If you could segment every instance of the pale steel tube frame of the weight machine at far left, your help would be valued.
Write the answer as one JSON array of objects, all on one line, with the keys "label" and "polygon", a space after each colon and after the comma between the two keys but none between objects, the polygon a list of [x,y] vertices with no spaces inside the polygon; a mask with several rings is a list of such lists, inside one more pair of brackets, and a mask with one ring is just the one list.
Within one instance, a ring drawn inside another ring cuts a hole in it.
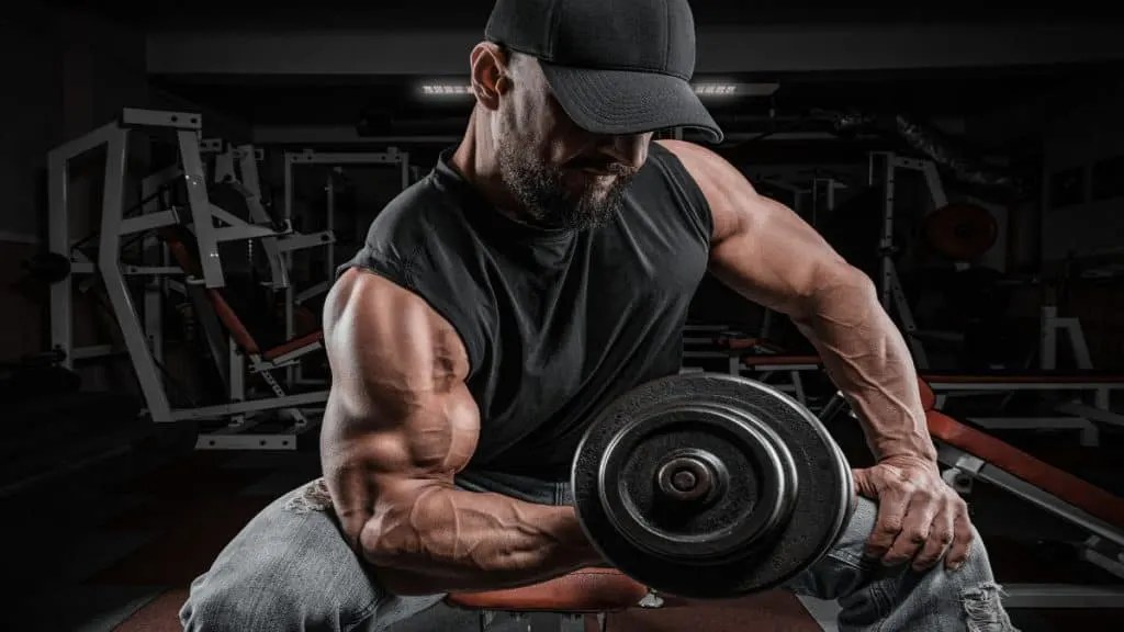
[{"label": "pale steel tube frame of the weight machine at far left", "polygon": [[[180,209],[154,210],[136,217],[125,217],[125,187],[127,178],[128,142],[133,129],[173,130],[180,154],[179,169],[149,175],[144,188],[149,189],[160,179],[183,178],[188,195],[198,259],[202,277],[184,279],[187,285],[199,285],[208,289],[225,285],[223,267],[218,255],[218,243],[237,240],[261,240],[263,237],[285,237],[270,227],[244,222],[215,207],[207,196],[206,173],[200,152],[202,118],[198,114],[157,111],[144,109],[123,110],[120,119],[107,124],[75,141],[65,143],[48,154],[49,172],[49,237],[52,253],[71,262],[71,274],[51,288],[51,338],[52,346],[64,353],[63,364],[73,367],[75,358],[103,355],[103,347],[75,347],[73,341],[73,297],[76,276],[100,276],[106,294],[121,331],[126,351],[136,372],[146,413],[154,423],[174,423],[189,419],[221,419],[281,408],[300,408],[327,400],[327,391],[303,392],[246,401],[230,401],[198,408],[173,408],[161,380],[162,371],[154,355],[158,349],[153,334],[146,331],[137,313],[125,277],[133,274],[184,276],[178,267],[123,265],[121,238],[127,235],[154,231],[180,223]],[[106,147],[105,188],[101,204],[101,224],[97,261],[89,261],[73,251],[70,235],[70,168],[71,161],[91,151]],[[216,226],[218,218],[227,226]],[[146,307],[157,301],[146,297]],[[155,317],[158,319],[158,316]],[[153,317],[146,315],[146,324],[152,326]],[[220,355],[217,355],[220,358]],[[294,434],[246,435],[229,432],[200,435],[197,445],[218,449],[287,448],[296,449]],[[248,428],[246,428],[248,430]]]}]

